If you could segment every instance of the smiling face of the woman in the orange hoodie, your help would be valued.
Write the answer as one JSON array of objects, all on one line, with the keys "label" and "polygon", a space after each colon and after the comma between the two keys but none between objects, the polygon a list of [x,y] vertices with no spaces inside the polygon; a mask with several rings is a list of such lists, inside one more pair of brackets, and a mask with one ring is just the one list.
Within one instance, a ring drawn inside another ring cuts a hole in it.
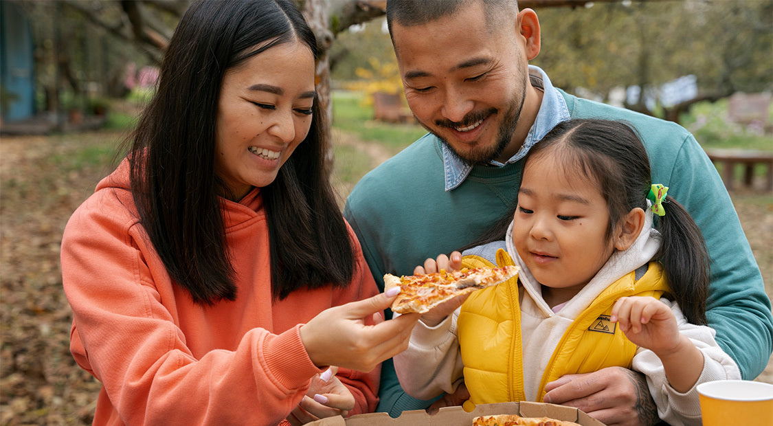
[{"label": "smiling face of the woman in the orange hoodie", "polygon": [[274,182],[312,124],[314,56],[281,43],[226,71],[217,108],[215,172],[235,200]]}]

